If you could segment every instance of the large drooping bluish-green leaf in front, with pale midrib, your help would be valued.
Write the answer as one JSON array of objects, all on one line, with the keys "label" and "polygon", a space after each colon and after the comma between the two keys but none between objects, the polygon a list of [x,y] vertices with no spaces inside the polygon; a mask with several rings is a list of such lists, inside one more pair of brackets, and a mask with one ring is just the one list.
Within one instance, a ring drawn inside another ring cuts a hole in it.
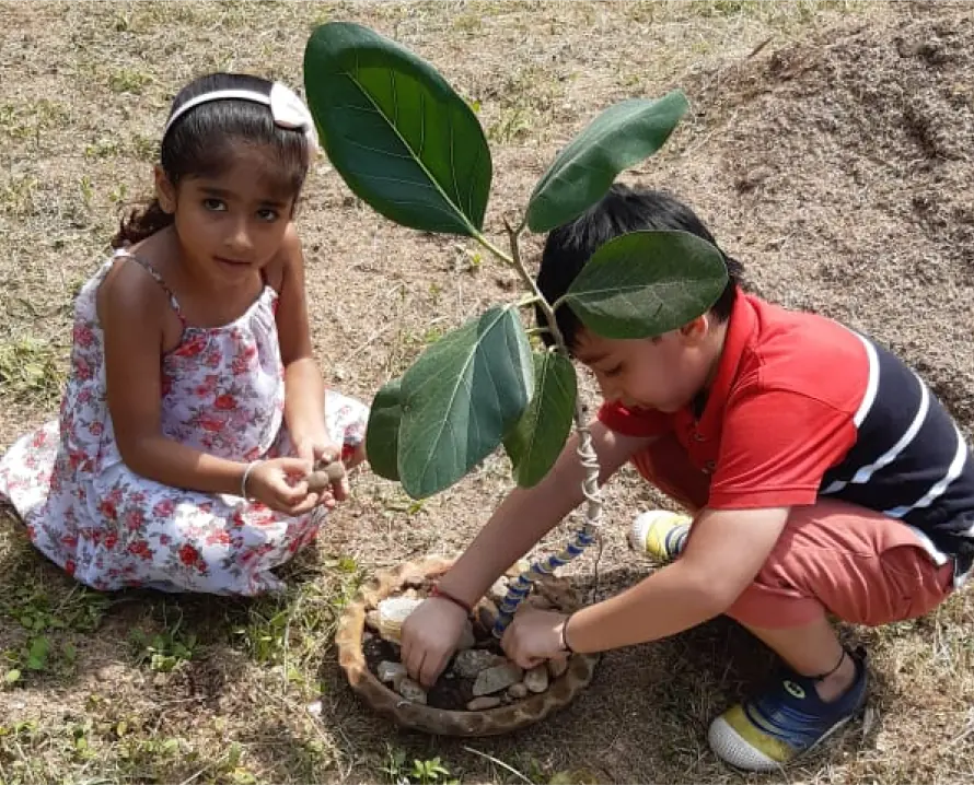
[{"label": "large drooping bluish-green leaf in front, with pale midrib", "polygon": [[527,336],[517,311],[492,307],[427,349],[403,375],[398,469],[422,499],[486,458],[534,394]]}]

